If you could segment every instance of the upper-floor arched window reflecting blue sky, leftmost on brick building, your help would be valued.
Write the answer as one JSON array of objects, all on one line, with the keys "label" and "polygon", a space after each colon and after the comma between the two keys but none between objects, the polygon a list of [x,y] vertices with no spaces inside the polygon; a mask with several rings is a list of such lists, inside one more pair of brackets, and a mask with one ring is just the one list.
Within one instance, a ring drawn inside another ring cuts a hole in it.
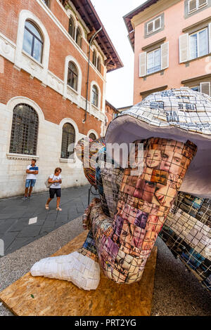
[{"label": "upper-floor arched window reflecting blue sky, leftmost on brick building", "polygon": [[42,60],[43,51],[43,37],[37,27],[26,20],[24,36],[23,36],[23,50],[32,56],[38,62]]}]

